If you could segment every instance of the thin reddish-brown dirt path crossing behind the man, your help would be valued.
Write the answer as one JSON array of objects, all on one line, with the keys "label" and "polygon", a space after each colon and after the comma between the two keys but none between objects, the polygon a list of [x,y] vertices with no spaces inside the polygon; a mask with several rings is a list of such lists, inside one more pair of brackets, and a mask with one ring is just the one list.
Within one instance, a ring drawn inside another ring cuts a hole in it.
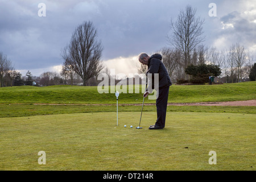
[{"label": "thin reddish-brown dirt path crossing behind the man", "polygon": [[[113,104],[34,104],[34,105],[113,105]],[[120,104],[120,105],[142,105],[142,104]],[[155,105],[155,104],[144,104]],[[256,100],[249,101],[229,101],[229,102],[198,102],[198,103],[168,103],[173,106],[256,106]]]}]

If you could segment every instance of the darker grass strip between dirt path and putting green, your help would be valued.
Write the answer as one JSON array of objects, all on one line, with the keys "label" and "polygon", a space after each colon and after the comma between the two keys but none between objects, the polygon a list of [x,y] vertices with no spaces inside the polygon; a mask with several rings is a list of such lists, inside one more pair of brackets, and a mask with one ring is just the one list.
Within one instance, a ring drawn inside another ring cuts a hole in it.
[{"label": "darker grass strip between dirt path and putting green", "polygon": [[[142,105],[142,103],[141,103]],[[141,111],[141,105],[118,105],[118,111]],[[32,105],[0,104],[0,118],[33,115],[114,112],[116,105]],[[143,111],[156,111],[155,105],[144,105]],[[208,112],[256,114],[255,106],[168,106],[171,112]]]}]

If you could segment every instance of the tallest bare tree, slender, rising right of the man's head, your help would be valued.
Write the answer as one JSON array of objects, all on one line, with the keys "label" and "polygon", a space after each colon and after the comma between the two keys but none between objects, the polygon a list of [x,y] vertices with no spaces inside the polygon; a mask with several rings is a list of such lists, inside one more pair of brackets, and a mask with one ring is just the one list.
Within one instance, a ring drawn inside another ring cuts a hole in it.
[{"label": "tallest bare tree, slender, rising right of the man's head", "polygon": [[172,35],[167,36],[168,42],[183,54],[181,65],[184,69],[191,64],[193,49],[204,42],[203,24],[204,20],[196,18],[196,9],[189,5],[185,7],[185,11],[180,11],[176,22],[171,21]]}]

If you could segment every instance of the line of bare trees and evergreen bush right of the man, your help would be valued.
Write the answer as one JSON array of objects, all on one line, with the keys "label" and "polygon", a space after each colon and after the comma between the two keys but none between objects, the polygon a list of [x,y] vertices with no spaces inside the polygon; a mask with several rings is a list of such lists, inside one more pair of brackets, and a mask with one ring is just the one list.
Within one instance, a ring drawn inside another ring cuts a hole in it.
[{"label": "line of bare trees and evergreen bush right of the man", "polygon": [[[175,21],[171,20],[171,33],[167,36],[168,47],[156,52],[162,54],[163,63],[172,80],[180,83],[197,82],[196,79],[205,80],[211,75],[220,76],[222,82],[255,80],[253,63],[256,57],[253,53],[247,51],[240,43],[234,43],[225,50],[205,46],[203,24],[204,19],[196,17],[196,9],[190,5],[186,6],[185,10],[180,10]],[[209,72],[208,69],[198,77],[207,65],[215,66],[216,70]],[[138,72],[146,72],[146,67],[141,65]]]}]

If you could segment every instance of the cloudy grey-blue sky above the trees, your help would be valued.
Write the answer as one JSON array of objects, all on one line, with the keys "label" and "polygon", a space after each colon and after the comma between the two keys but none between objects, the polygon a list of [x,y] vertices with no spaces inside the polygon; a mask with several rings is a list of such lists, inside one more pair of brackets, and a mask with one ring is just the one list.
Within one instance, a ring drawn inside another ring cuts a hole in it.
[{"label": "cloudy grey-blue sky above the trees", "polygon": [[[38,5],[46,5],[39,16]],[[216,17],[209,16],[210,3]],[[137,56],[168,46],[171,19],[186,5],[205,20],[205,46],[228,49],[240,43],[256,50],[255,0],[0,0],[0,52],[23,75],[59,72],[60,53],[72,32],[84,21],[98,30],[104,51],[102,61],[115,73],[137,73]]]}]

